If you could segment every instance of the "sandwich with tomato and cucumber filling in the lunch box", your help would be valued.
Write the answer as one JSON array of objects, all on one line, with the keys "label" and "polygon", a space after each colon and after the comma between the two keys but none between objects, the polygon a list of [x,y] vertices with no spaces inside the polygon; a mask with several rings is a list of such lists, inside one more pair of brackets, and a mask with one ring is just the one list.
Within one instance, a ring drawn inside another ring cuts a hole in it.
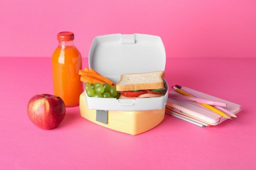
[{"label": "sandwich with tomato and cucumber filling in the lunch box", "polygon": [[116,90],[120,93],[119,99],[160,97],[167,91],[164,77],[163,71],[123,74],[116,84]]}]

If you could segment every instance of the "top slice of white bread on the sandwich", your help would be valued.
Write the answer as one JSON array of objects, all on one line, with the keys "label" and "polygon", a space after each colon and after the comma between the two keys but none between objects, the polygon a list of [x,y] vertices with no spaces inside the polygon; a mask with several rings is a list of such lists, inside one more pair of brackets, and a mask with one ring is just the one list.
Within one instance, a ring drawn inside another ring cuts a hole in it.
[{"label": "top slice of white bread on the sandwich", "polygon": [[123,74],[116,84],[117,91],[149,90],[164,88],[163,71]]}]

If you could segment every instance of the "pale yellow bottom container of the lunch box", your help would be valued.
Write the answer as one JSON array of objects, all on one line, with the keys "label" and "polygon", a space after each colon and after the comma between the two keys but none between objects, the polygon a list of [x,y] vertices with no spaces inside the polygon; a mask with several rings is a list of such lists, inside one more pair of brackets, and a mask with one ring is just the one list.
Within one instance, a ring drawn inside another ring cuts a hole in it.
[{"label": "pale yellow bottom container of the lunch box", "polygon": [[143,111],[108,111],[108,122],[96,121],[96,110],[87,107],[85,92],[81,93],[79,101],[80,113],[83,118],[100,126],[108,127],[123,133],[137,135],[158,126],[165,116],[165,108],[161,110]]}]

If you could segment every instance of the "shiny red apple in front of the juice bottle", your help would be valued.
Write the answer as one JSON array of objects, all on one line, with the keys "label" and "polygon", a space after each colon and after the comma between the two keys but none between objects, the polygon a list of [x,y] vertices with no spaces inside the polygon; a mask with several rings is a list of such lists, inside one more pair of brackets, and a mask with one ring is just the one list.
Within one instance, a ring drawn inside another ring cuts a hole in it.
[{"label": "shiny red apple in front of the juice bottle", "polygon": [[28,117],[42,129],[57,127],[66,114],[64,101],[51,94],[34,95],[28,102]]}]

